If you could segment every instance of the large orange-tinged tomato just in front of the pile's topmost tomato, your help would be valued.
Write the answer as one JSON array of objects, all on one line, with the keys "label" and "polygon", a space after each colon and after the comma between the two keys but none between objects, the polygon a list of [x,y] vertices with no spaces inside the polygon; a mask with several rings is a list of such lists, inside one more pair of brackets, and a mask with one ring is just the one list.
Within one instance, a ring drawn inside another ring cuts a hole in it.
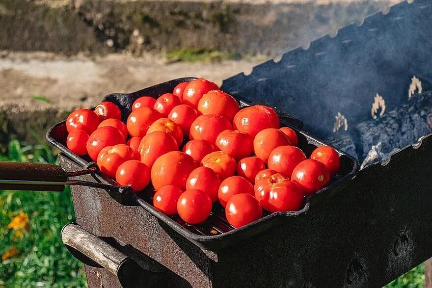
[{"label": "large orange-tinged tomato just in front of the pile's topmost tomato", "polygon": [[234,115],[239,112],[239,109],[237,100],[220,90],[207,92],[198,102],[198,111],[203,115],[220,114],[230,122],[233,121]]}]

